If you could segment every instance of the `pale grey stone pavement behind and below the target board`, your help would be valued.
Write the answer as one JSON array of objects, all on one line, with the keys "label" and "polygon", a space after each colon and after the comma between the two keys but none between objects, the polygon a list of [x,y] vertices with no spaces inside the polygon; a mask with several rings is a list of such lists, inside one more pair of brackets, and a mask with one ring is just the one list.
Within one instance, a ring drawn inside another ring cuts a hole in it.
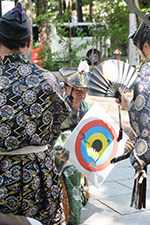
[{"label": "pale grey stone pavement behind and below the target board", "polygon": [[[129,94],[132,97],[132,93]],[[118,106],[114,99],[88,96],[88,102],[98,101],[107,113],[119,122]],[[128,133],[128,114],[121,111],[122,126]],[[149,225],[150,224],[150,168],[148,166],[146,209],[130,207],[134,183],[134,169],[129,159],[118,162],[103,184],[97,189],[89,182],[91,198],[81,210],[83,225]]]}]

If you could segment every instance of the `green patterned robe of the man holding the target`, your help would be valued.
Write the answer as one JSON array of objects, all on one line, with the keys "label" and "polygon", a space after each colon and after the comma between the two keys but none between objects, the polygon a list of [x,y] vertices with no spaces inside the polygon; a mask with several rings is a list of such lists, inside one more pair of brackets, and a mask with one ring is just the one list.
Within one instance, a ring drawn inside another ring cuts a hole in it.
[{"label": "green patterned robe of the man holding the target", "polygon": [[[66,99],[66,95],[64,96]],[[68,100],[66,100],[69,104]],[[75,110],[70,106],[71,113],[65,119],[65,121],[61,125],[61,135],[59,136],[56,145],[63,145],[64,141],[68,137],[68,135],[73,131],[76,125],[80,122],[82,117],[91,107],[91,104],[83,101],[80,103],[78,116]],[[70,207],[70,225],[79,225],[80,217],[81,217],[81,208],[84,204],[83,199],[83,191],[81,186],[81,173],[73,166],[66,166],[62,172],[62,176],[64,179],[64,184],[66,186],[68,198],[69,198],[69,207]],[[65,208],[66,206],[64,206]]]}]

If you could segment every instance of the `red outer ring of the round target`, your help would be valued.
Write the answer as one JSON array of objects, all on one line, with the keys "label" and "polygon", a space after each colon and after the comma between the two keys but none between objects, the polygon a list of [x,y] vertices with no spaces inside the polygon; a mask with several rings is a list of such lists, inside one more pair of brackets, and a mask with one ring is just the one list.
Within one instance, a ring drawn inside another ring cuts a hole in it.
[{"label": "red outer ring of the round target", "polygon": [[[97,165],[97,169],[94,167],[91,167],[89,165],[89,163],[87,163],[85,161],[85,159],[83,158],[82,153],[81,153],[82,134],[85,134],[90,128],[92,128],[94,126],[100,126],[100,127],[106,128],[110,132],[110,134],[113,138],[113,150],[111,152],[111,155],[109,156],[107,161],[105,161],[104,163],[102,163],[100,165]],[[89,123],[87,123],[79,131],[79,134],[78,134],[78,136],[76,138],[76,142],[75,142],[75,154],[78,159],[78,162],[84,169],[86,169],[88,171],[92,171],[92,172],[98,172],[98,171],[106,169],[110,165],[110,160],[116,156],[117,150],[118,150],[117,134],[116,134],[114,128],[112,127],[112,125],[110,125],[107,122],[104,122],[103,120],[93,120],[93,121],[90,121]]]}]

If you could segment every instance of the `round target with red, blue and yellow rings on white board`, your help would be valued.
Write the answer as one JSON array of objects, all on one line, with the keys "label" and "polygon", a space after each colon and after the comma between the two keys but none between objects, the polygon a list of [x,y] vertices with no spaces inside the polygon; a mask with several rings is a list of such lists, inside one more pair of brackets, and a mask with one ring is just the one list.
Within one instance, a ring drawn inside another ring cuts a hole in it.
[{"label": "round target with red, blue and yellow rings on white board", "polygon": [[117,134],[112,125],[103,120],[88,122],[75,141],[77,160],[88,171],[101,171],[108,167],[117,150]]}]

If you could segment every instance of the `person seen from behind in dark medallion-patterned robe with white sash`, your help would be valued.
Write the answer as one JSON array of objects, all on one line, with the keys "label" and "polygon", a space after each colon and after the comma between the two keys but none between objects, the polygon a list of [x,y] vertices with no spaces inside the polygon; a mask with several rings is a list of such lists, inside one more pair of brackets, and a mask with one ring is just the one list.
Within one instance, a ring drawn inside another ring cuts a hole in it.
[{"label": "person seen from behind in dark medallion-patterned robe with white sash", "polygon": [[0,18],[0,212],[62,224],[62,187],[51,150],[70,113],[58,80],[27,56],[21,3]]}]

